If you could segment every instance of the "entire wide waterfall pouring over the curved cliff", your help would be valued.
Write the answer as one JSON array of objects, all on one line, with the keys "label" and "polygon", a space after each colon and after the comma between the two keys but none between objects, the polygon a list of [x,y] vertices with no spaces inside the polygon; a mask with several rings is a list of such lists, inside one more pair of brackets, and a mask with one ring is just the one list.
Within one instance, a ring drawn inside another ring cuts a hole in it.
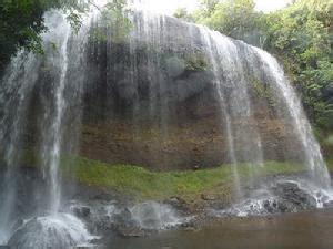
[{"label": "entire wide waterfall pouring over the curved cliff", "polygon": [[[63,191],[68,190],[62,189],[61,179],[63,170],[73,167],[63,164],[65,157],[90,152],[112,163],[147,163],[154,169],[231,164],[235,199],[244,196],[244,167],[250,170],[252,187],[265,160],[276,157],[301,162],[313,184],[330,188],[320,145],[295,91],[272,55],[173,18],[147,11],[133,11],[129,18],[131,31],[115,41],[111,29],[102,29],[104,39],[94,38],[95,29],[105,28],[99,17],[89,17],[74,34],[63,14],[48,12],[49,30],[42,34],[44,54],[22,50],[12,58],[0,85],[0,155],[4,165],[0,169],[6,172],[0,195],[0,243],[9,241],[13,230],[29,234],[30,228],[40,226],[41,235],[49,235],[44,228],[51,226],[59,238],[75,237],[63,247],[88,237],[80,220],[61,214]],[[270,93],[270,100],[256,90]],[[281,136],[268,136],[270,118],[279,123]],[[206,120],[213,128],[206,127]],[[128,136],[115,139],[112,135],[118,131],[107,129],[117,122],[122,122],[121,128],[130,124],[130,146],[125,144]],[[215,137],[204,141],[205,134],[214,133],[214,125],[218,142]],[[105,151],[85,139],[83,126],[107,129],[102,137],[93,134],[92,139],[101,139]],[[151,134],[149,143],[142,145]],[[179,138],[183,136],[188,141]],[[270,144],[271,137],[274,143]],[[193,149],[185,151],[188,145]],[[283,153],[275,153],[276,147]],[[216,155],[211,153],[214,149]],[[21,165],[27,151],[36,154],[36,165]],[[22,214],[19,201],[21,166],[33,166],[42,176],[42,187],[27,186],[33,188],[29,214]],[[29,227],[13,226],[18,216],[29,217]],[[23,236],[22,243],[38,237],[40,243],[32,245],[49,246],[50,241],[38,234]]]}]

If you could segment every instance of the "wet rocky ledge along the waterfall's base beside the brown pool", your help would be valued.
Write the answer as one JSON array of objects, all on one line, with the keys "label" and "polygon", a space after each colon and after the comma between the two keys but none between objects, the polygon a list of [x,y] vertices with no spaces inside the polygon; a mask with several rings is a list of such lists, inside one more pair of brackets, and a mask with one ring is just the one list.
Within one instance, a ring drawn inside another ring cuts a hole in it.
[{"label": "wet rocky ledge along the waterfall's base beside the brown pool", "polygon": [[196,203],[189,203],[180,196],[160,203],[135,203],[130,197],[81,188],[75,195],[77,200],[72,200],[69,207],[85,221],[89,230],[104,237],[147,237],[170,229],[198,230],[216,220],[244,217],[270,219],[273,214],[332,207],[329,193],[306,186],[302,179],[295,181],[285,176],[272,178],[274,183],[271,178],[265,179],[258,190],[249,188],[243,200],[233,205],[209,195],[201,195]]}]

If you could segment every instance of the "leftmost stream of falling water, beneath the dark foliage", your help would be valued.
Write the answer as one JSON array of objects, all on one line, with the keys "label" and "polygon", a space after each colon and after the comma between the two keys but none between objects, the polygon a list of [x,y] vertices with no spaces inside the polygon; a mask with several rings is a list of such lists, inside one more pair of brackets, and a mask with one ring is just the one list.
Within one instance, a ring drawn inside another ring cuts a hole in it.
[{"label": "leftmost stream of falling water, beneath the dark foliage", "polygon": [[0,196],[0,243],[6,241],[11,232],[11,221],[17,211],[16,201],[16,169],[20,158],[22,133],[26,127],[24,117],[31,91],[37,81],[37,68],[39,62],[24,51],[20,51],[12,59],[12,66],[8,69],[0,90],[2,117],[0,122],[0,137],[3,146],[2,153],[7,173],[1,183]]}]

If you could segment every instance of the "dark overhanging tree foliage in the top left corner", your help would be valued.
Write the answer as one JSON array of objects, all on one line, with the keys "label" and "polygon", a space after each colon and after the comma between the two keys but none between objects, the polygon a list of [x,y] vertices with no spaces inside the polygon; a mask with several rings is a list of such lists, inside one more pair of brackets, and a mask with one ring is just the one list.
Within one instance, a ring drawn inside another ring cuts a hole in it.
[{"label": "dark overhanging tree foliage in the top left corner", "polygon": [[52,8],[69,10],[68,19],[73,27],[79,25],[78,18],[85,11],[85,6],[80,4],[79,1],[0,1],[0,73],[18,49],[24,46],[42,52],[40,33],[47,29],[43,24],[43,13]]}]

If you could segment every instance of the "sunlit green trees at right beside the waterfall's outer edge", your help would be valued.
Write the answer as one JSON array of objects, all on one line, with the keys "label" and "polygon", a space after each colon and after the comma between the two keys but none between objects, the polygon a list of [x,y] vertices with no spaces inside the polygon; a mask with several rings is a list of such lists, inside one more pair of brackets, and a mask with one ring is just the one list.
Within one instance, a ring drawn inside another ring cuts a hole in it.
[{"label": "sunlit green trees at right beside the waterfall's outer edge", "polygon": [[312,122],[333,128],[333,2],[300,0],[268,15],[265,49],[278,54]]}]

